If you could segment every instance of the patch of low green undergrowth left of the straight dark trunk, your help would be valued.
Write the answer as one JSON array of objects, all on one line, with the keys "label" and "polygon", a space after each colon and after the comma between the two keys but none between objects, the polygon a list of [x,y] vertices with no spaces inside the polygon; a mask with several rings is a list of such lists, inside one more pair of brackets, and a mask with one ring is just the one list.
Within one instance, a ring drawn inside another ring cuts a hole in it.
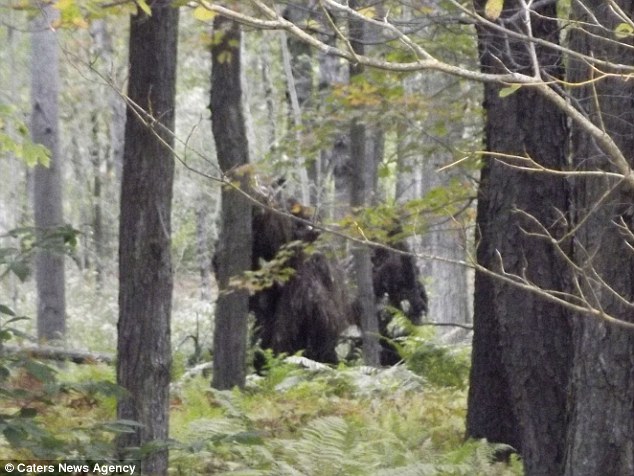
[{"label": "patch of low green undergrowth left of the straight dark trunk", "polygon": [[105,365],[0,362],[0,459],[109,458],[114,435],[134,425],[116,420],[123,393]]}]

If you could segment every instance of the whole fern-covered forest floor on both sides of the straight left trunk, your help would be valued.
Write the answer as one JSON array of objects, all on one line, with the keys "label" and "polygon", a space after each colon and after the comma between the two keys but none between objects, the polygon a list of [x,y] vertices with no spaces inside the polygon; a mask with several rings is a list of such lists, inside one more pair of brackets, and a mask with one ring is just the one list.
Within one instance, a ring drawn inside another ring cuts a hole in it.
[{"label": "whole fern-covered forest floor on both sides of the straight left trunk", "polygon": [[[69,276],[70,346],[114,353],[116,286],[95,293],[86,283]],[[203,349],[213,305],[201,300],[194,281],[177,283],[176,291],[170,474],[522,474],[516,459],[493,462],[499,446],[464,438],[469,347],[442,344],[426,328],[395,367],[270,357],[265,376],[249,376],[243,390],[217,391],[205,371],[188,371],[209,358]],[[27,283],[10,304],[33,315],[33,298]],[[31,327],[27,321],[23,331]],[[113,366],[0,359],[0,459],[112,454],[113,436],[129,429],[115,421]]]}]

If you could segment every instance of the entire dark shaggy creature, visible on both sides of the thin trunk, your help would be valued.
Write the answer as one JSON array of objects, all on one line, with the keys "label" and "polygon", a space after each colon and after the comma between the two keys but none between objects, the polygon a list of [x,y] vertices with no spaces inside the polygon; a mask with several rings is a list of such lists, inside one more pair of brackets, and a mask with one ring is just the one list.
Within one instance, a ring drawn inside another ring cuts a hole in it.
[{"label": "entire dark shaggy creature, visible on both sides of the thin trunk", "polygon": [[[285,259],[282,267],[294,270],[289,279],[274,279],[255,292],[249,307],[255,316],[255,340],[263,349],[275,353],[304,355],[319,362],[336,363],[335,347],[344,329],[351,325],[356,303],[348,295],[340,268],[321,252],[305,251],[319,232],[310,222],[310,209],[293,200],[262,195],[262,207],[253,212],[252,269],[260,270],[272,261]],[[283,205],[281,205],[283,204]],[[388,238],[400,233],[400,228]],[[416,259],[404,240],[390,243],[392,249],[375,248],[372,278],[382,339],[381,364],[400,360],[390,340],[399,337],[390,321],[393,309],[400,310],[414,324],[427,312],[427,295],[420,281]],[[264,361],[256,354],[255,367],[262,371]]]}]

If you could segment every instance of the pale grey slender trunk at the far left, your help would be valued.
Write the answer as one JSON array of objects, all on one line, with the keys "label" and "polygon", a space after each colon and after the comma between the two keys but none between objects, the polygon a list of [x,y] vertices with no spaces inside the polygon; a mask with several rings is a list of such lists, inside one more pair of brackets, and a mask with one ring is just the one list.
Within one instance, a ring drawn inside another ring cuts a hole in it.
[{"label": "pale grey slender trunk at the far left", "polygon": [[[51,22],[59,16],[53,5],[38,5],[33,20],[31,63],[31,135],[51,154],[50,165],[33,171],[33,210],[38,238],[64,224],[62,160],[59,154],[59,62],[57,35]],[[59,341],[66,332],[63,243],[50,243],[35,257],[37,283],[37,337]],[[55,249],[58,248],[58,249]]]}]

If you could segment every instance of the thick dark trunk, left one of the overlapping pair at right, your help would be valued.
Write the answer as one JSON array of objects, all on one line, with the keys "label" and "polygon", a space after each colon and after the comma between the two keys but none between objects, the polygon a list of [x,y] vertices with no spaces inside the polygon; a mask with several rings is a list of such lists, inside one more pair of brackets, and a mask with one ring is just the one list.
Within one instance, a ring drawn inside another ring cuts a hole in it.
[{"label": "thick dark trunk, left one of the overlapping pair at right", "polygon": [[[477,1],[476,7],[484,3]],[[519,6],[505,2],[503,16],[517,13]],[[544,5],[539,14],[531,16],[533,34],[556,42],[558,25],[548,20],[556,17],[555,4]],[[516,18],[506,26],[523,31],[521,15]],[[484,71],[533,73],[525,42],[484,26],[478,38]],[[537,48],[536,56],[542,74],[561,75],[558,55]],[[500,89],[485,86],[487,150],[565,168],[563,113],[529,88],[508,97],[500,97]],[[554,237],[562,235],[569,206],[565,180],[513,169],[512,160],[490,156],[487,161],[479,190],[479,264],[521,275],[541,288],[565,290],[563,261],[548,240],[528,235],[542,231],[535,222]],[[483,273],[476,274],[476,293],[468,434],[517,448],[527,475],[562,474],[572,358],[567,313]]]}]

